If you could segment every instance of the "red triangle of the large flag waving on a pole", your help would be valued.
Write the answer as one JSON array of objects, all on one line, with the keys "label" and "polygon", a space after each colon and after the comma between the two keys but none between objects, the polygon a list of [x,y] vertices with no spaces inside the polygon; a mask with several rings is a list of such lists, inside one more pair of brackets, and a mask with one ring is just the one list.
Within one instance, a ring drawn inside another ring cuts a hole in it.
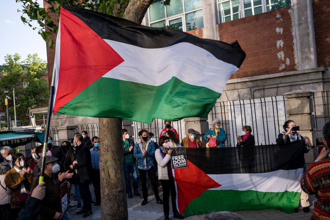
[{"label": "red triangle of the large flag waving on a pole", "polygon": [[60,40],[60,58],[53,114],[93,82],[124,62],[90,27],[63,8],[60,16],[60,38],[57,40]]}]

